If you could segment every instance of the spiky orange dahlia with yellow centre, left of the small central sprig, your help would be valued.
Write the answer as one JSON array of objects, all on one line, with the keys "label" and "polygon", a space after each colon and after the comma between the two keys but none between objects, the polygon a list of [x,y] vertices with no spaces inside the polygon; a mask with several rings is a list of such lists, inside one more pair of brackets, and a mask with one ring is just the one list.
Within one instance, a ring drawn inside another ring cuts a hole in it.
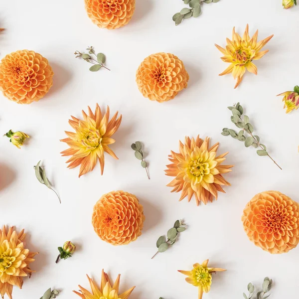
[{"label": "spiky orange dahlia with yellow centre, left of the small central sprig", "polygon": [[72,156],[66,161],[69,163],[67,167],[74,168],[81,164],[79,177],[92,171],[96,166],[97,159],[100,161],[101,174],[103,174],[104,151],[118,159],[108,146],[115,143],[111,136],[118,130],[122,122],[122,115],[117,118],[117,112],[109,121],[109,106],[107,106],[107,111],[103,116],[98,104],[95,113],[88,106],[88,115],[83,110],[82,114],[84,120],[71,116],[72,119],[69,120],[69,124],[76,133],[65,131],[68,138],[60,141],[65,142],[70,149],[63,150],[61,154],[62,156]]}]

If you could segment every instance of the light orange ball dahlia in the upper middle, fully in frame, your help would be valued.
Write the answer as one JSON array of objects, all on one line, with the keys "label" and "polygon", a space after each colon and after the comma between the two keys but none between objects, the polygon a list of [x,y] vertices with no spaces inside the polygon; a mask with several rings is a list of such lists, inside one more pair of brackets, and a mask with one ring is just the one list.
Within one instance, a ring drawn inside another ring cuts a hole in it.
[{"label": "light orange ball dahlia in the upper middle, fully in frame", "polygon": [[149,55],[136,73],[143,96],[159,103],[172,100],[179,91],[187,88],[188,80],[183,62],[170,53]]}]

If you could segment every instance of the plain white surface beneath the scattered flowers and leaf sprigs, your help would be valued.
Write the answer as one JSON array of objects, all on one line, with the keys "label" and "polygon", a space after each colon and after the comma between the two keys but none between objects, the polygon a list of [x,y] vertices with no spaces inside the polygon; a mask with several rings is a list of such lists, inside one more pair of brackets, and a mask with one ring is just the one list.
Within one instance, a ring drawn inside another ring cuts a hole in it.
[{"label": "plain white surface beneath the scattered flowers and leaf sprigs", "polygon": [[[279,190],[294,200],[298,195],[298,116],[283,110],[277,94],[299,84],[299,7],[284,10],[280,0],[221,0],[203,4],[202,15],[175,26],[172,15],[187,7],[181,0],[137,0],[131,22],[116,30],[98,28],[87,17],[83,0],[1,0],[0,58],[19,49],[34,50],[49,60],[54,85],[44,99],[17,105],[0,95],[0,132],[21,130],[31,136],[21,149],[7,138],[0,139],[0,225],[25,228],[30,251],[39,251],[30,266],[37,272],[24,279],[14,299],[40,298],[49,287],[62,290],[59,298],[79,298],[71,293],[77,285],[89,289],[85,274],[100,282],[105,269],[115,279],[122,274],[121,291],[136,286],[131,299],[197,298],[197,289],[187,284],[177,270],[190,270],[193,263],[210,259],[211,267],[226,268],[213,276],[205,299],[240,299],[249,282],[260,287],[264,277],[274,280],[273,299],[297,295],[299,248],[288,254],[271,255],[251,243],[243,231],[241,215],[258,192]],[[231,75],[219,77],[228,64],[214,43],[225,46],[233,26],[243,35],[259,29],[259,40],[274,34],[264,49],[269,53],[256,61],[258,76],[246,73],[234,90]],[[107,67],[90,72],[90,65],[75,59],[75,50],[93,45],[107,56]],[[135,74],[149,54],[171,52],[185,64],[188,88],[174,100],[159,104],[143,98]],[[240,101],[269,153],[283,167],[253,148],[220,135],[232,127],[226,108]],[[111,149],[118,155],[105,159],[104,175],[99,164],[80,179],[79,168],[66,168],[66,149],[59,139],[70,115],[99,103],[117,110],[123,122]],[[184,136],[211,137],[220,142],[233,171],[225,176],[232,184],[218,201],[196,207],[180,194],[170,193],[171,180],[163,170],[170,150],[177,151]],[[149,162],[148,180],[130,145],[140,140]],[[42,159],[49,179],[61,196],[41,185],[33,165]],[[102,194],[123,189],[136,194],[146,215],[143,234],[127,246],[113,247],[99,239],[91,225],[93,206]],[[156,239],[178,218],[188,229],[167,252],[155,253]],[[64,241],[77,244],[74,256],[55,265],[57,247]],[[246,292],[247,293],[247,292]]]}]

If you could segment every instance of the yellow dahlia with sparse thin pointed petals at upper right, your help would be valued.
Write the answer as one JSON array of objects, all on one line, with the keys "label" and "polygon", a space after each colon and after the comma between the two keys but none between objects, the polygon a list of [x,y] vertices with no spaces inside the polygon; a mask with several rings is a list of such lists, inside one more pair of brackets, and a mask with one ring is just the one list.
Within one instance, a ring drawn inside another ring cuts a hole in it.
[{"label": "yellow dahlia with sparse thin pointed petals at upper right", "polygon": [[267,52],[269,52],[269,50],[261,50],[273,37],[273,34],[258,42],[258,32],[259,30],[257,30],[256,33],[250,38],[247,24],[244,35],[241,37],[235,32],[234,27],[233,38],[232,40],[228,38],[226,39],[227,46],[225,49],[215,44],[218,50],[224,54],[221,59],[224,62],[230,63],[229,67],[224,72],[219,74],[219,76],[232,73],[234,79],[237,79],[235,88],[237,88],[241,83],[246,69],[255,75],[258,74],[258,69],[252,61],[262,58]]}]

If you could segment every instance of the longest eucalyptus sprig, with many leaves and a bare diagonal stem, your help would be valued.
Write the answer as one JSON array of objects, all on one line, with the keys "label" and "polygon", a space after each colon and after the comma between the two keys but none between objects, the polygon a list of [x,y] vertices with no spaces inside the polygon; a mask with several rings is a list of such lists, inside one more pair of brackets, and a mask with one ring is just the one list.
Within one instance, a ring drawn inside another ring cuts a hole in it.
[{"label": "longest eucalyptus sprig, with many leaves and a bare diagonal stem", "polygon": [[[231,112],[231,121],[235,124],[237,128],[240,128],[241,130],[237,133],[236,131],[232,129],[224,128],[222,129],[222,135],[223,136],[231,136],[234,139],[238,139],[239,141],[244,142],[245,147],[254,147],[257,149],[260,147],[261,149],[257,150],[257,154],[259,156],[268,156],[281,170],[283,169],[281,166],[279,166],[276,161],[269,155],[267,152],[267,148],[265,145],[260,143],[260,138],[257,135],[253,135],[253,126],[249,123],[249,117],[247,115],[244,115],[242,119],[242,115],[244,113],[243,107],[240,105],[240,103],[237,103],[234,106],[227,107]],[[245,132],[249,135],[246,136]]]}]

